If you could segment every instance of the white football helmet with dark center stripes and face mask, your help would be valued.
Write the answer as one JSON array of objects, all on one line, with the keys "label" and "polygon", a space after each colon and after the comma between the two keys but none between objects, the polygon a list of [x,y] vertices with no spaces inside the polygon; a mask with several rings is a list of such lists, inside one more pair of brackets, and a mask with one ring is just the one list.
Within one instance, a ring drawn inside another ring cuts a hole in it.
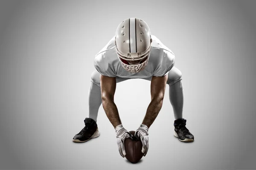
[{"label": "white football helmet with dark center stripes and face mask", "polygon": [[123,20],[116,29],[116,52],[126,71],[137,73],[148,64],[151,51],[151,33],[145,21],[139,18]]}]

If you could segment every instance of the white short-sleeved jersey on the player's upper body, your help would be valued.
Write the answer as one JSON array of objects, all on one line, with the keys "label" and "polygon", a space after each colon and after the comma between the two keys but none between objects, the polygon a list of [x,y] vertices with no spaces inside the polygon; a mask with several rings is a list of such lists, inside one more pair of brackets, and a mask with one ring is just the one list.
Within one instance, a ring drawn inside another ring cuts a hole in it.
[{"label": "white short-sleeved jersey on the player's upper body", "polygon": [[108,77],[149,78],[165,76],[175,64],[175,55],[157,37],[151,35],[151,38],[152,48],[148,64],[142,71],[131,73],[122,67],[116,54],[115,37],[95,56],[94,67],[100,74]]}]

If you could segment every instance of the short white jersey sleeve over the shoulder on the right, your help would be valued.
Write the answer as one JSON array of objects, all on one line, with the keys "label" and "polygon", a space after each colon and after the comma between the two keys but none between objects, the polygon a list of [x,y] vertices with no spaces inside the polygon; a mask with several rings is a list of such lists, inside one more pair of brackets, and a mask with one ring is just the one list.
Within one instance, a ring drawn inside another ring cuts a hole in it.
[{"label": "short white jersey sleeve over the shoulder on the right", "polygon": [[155,77],[163,77],[169,73],[169,71],[175,65],[175,56],[171,52],[167,52],[163,56],[163,59],[158,63],[156,70],[153,73]]}]

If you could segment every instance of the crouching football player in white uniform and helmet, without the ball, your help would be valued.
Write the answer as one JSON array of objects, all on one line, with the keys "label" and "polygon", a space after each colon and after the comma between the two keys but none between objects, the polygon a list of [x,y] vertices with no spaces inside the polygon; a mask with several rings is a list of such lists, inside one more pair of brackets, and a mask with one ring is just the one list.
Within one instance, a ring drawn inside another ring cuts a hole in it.
[{"label": "crouching football player in white uniform and helmet, without the ball", "polygon": [[[186,128],[183,111],[183,85],[181,72],[175,66],[175,55],[157,37],[151,35],[148,25],[139,18],[123,20],[115,36],[96,54],[89,89],[89,113],[85,127],[74,136],[73,142],[86,142],[99,136],[97,116],[102,104],[116,130],[119,153],[125,156],[124,141],[129,137],[123,127],[114,102],[116,83],[127,79],[151,81],[151,102],[143,122],[136,130],[143,143],[142,153],[148,152],[148,128],[162,108],[166,84],[174,112],[174,136],[182,142],[193,142],[194,136]],[[134,84],[134,88],[139,87]],[[132,87],[131,87],[132,88]]]}]

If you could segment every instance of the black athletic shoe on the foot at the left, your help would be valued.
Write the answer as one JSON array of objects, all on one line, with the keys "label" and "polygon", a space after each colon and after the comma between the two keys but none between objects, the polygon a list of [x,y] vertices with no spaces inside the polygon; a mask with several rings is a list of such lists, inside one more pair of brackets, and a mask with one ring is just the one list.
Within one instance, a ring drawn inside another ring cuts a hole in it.
[{"label": "black athletic shoe on the foot at the left", "polygon": [[98,126],[93,119],[85,118],[84,124],[84,128],[73,137],[73,142],[86,142],[99,136]]}]

